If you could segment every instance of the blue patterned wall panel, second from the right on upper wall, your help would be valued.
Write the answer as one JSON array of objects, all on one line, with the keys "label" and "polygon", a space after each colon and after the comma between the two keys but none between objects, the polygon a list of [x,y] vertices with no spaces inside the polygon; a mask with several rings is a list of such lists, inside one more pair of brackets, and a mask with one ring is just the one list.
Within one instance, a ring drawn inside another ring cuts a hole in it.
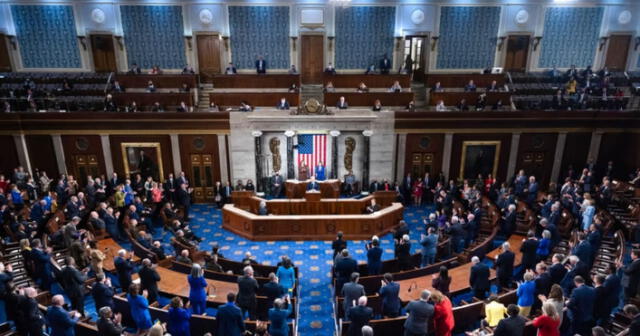
[{"label": "blue patterned wall panel, second from the right on upper wall", "polygon": [[438,69],[493,66],[500,7],[442,7]]}]

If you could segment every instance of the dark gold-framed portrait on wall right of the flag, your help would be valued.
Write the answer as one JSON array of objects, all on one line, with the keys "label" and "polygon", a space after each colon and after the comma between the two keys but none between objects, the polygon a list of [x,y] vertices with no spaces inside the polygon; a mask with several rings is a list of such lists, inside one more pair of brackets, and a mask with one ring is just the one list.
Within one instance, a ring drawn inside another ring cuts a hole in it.
[{"label": "dark gold-framed portrait on wall right of the flag", "polygon": [[462,143],[460,180],[475,179],[478,174],[495,178],[500,157],[500,141],[465,141]]}]

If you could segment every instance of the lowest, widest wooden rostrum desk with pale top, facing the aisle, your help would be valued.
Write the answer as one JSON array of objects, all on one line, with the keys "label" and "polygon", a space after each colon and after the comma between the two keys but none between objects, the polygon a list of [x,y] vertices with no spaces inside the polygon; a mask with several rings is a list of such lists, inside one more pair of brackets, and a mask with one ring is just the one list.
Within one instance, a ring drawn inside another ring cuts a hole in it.
[{"label": "lowest, widest wooden rostrum desk with pale top, facing the aisle", "polygon": [[403,207],[393,203],[370,215],[258,216],[227,204],[222,227],[250,240],[331,240],[338,231],[351,239],[384,235],[398,225]]}]

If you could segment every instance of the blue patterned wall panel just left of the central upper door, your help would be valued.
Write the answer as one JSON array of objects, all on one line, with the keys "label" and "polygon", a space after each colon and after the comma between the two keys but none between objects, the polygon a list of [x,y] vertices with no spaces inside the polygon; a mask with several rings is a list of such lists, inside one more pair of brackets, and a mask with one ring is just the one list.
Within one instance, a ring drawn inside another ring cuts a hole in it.
[{"label": "blue patterned wall panel just left of the central upper door", "polygon": [[229,32],[237,68],[253,69],[258,55],[267,69],[289,67],[289,7],[230,6]]}]

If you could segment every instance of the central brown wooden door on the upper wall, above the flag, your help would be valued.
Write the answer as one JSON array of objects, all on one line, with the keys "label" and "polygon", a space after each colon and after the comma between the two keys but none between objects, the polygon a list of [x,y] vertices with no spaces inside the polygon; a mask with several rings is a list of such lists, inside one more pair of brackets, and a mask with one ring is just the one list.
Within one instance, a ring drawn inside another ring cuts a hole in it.
[{"label": "central brown wooden door on the upper wall, above the flag", "polygon": [[302,83],[322,83],[322,68],[324,66],[324,36],[302,35],[300,50],[300,74]]}]

